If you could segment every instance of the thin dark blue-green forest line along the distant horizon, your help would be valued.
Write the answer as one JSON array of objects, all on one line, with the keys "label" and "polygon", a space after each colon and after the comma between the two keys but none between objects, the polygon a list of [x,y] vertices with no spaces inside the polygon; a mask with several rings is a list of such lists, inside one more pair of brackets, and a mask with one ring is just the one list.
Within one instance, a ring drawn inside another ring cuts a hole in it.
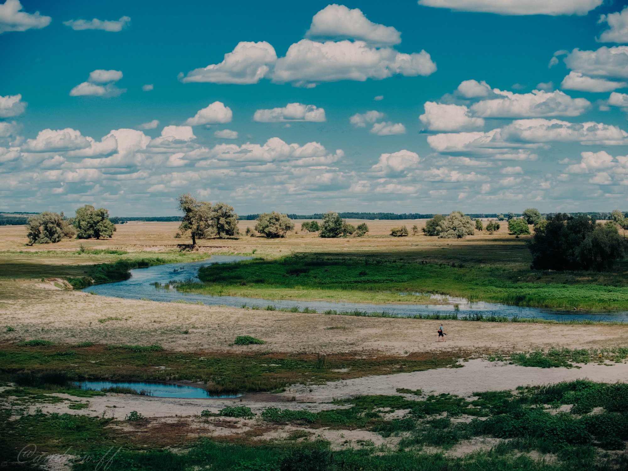
[{"label": "thin dark blue-green forest line along the distant horizon", "polygon": [[[35,215],[39,213],[27,213],[27,212],[0,212],[0,225],[23,225],[26,224],[26,220],[30,215]],[[434,217],[434,214],[421,214],[421,213],[361,213],[361,212],[342,212],[338,213],[340,217],[344,219],[366,219],[366,220],[376,220],[376,219],[431,219]],[[472,218],[497,218],[500,215],[507,215],[507,212],[504,213],[472,213],[467,214]],[[554,213],[543,214],[544,216],[552,215]],[[571,215],[585,214],[590,216],[591,219],[596,220],[606,220],[610,217],[610,212],[575,212],[570,213]],[[628,217],[628,213],[625,213]],[[521,214],[514,214],[516,217],[521,216]],[[240,220],[252,221],[256,220],[259,214],[248,214],[239,216]],[[288,214],[290,219],[322,219],[323,213],[315,213],[315,214]],[[124,224],[129,221],[144,221],[144,222],[178,222],[181,220],[181,216],[133,216],[133,217],[124,217],[124,216],[113,216],[109,218],[111,222],[114,224]]]}]

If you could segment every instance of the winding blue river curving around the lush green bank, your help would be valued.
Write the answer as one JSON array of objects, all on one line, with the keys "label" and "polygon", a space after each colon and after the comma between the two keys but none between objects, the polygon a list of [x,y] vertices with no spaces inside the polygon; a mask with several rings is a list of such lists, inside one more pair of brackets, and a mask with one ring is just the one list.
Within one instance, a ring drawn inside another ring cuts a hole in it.
[{"label": "winding blue river curving around the lush green bank", "polygon": [[[467,301],[464,299],[448,298],[448,304],[368,304],[368,303],[332,303],[329,301],[292,301],[292,300],[263,300],[257,298],[244,298],[242,296],[208,296],[196,293],[180,293],[174,287],[176,283],[197,278],[198,269],[202,266],[214,263],[233,263],[249,260],[252,257],[235,255],[214,255],[210,259],[187,262],[171,263],[138,268],[131,270],[131,278],[116,283],[98,284],[89,286],[83,291],[94,292],[101,296],[114,296],[117,298],[147,299],[152,301],[187,301],[190,303],[201,302],[205,305],[225,305],[239,308],[247,305],[249,308],[268,310],[292,310],[318,313],[353,313],[354,315],[378,315],[384,312],[386,317],[413,317],[421,315],[455,315],[459,317],[490,317],[499,316],[507,318],[539,318],[557,321],[610,321],[628,322],[627,311],[615,311],[607,313],[587,313],[586,311],[558,311],[544,308],[531,308],[524,306],[509,306],[499,303],[485,303],[483,301]],[[434,296],[435,302],[442,302],[439,296]],[[332,311],[332,312],[329,312]]]}]

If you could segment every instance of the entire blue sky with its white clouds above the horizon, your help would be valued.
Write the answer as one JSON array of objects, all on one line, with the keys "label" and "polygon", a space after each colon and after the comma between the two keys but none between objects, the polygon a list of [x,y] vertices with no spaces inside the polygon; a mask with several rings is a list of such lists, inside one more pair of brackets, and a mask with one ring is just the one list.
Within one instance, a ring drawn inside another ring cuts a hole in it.
[{"label": "entire blue sky with its white clouds above the horizon", "polygon": [[3,1],[0,210],[628,209],[622,1]]}]

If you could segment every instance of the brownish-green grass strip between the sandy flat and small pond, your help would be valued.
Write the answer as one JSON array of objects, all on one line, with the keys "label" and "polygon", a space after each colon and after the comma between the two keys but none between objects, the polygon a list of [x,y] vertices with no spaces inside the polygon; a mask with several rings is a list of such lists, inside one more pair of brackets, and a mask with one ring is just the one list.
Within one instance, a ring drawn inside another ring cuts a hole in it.
[{"label": "brownish-green grass strip between the sandy flat and small pond", "polygon": [[13,381],[21,371],[58,371],[70,379],[203,381],[210,391],[244,393],[273,391],[299,382],[424,371],[453,365],[463,356],[462,352],[366,359],[352,354],[185,354],[163,350],[159,345],[55,345],[30,341],[0,345],[0,381]]}]

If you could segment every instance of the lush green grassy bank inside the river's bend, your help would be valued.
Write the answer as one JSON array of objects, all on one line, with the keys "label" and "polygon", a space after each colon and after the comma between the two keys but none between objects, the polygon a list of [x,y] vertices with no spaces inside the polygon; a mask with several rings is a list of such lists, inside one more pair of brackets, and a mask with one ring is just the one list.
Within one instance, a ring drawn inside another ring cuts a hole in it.
[{"label": "lush green grassy bank inside the river's bend", "polygon": [[206,266],[199,273],[203,283],[183,283],[178,289],[207,295],[369,303],[426,303],[426,296],[412,293],[438,293],[519,306],[625,310],[624,269],[556,273],[432,264],[403,256],[390,261],[364,254],[307,254]]}]

